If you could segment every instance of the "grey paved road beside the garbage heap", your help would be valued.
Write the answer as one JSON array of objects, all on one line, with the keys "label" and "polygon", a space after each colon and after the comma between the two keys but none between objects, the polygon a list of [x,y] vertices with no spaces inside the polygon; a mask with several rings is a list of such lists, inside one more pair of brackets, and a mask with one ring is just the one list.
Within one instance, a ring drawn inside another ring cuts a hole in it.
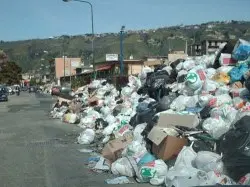
[{"label": "grey paved road beside the garbage heap", "polygon": [[0,186],[110,186],[104,180],[112,175],[87,169],[88,155],[75,144],[81,129],[48,118],[51,104],[50,97],[28,93],[0,103]]}]

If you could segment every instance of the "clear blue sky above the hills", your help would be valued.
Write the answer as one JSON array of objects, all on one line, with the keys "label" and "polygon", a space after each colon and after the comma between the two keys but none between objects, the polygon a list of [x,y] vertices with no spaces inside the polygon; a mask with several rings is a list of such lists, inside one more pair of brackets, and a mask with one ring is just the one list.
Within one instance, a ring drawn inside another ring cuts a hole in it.
[{"label": "clear blue sky above the hills", "polygon": [[[207,21],[250,20],[250,0],[89,0],[96,33]],[[0,0],[0,40],[91,32],[90,8],[62,0]]]}]

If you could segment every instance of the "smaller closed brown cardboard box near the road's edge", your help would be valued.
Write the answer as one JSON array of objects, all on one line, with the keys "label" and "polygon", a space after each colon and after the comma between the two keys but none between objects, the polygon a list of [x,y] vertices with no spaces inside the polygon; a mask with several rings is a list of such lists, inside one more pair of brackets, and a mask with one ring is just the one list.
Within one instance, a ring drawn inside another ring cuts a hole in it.
[{"label": "smaller closed brown cardboard box near the road's edge", "polygon": [[105,145],[102,150],[102,156],[108,159],[110,162],[116,161],[120,156],[122,151],[132,142],[132,139],[122,137],[110,141]]}]

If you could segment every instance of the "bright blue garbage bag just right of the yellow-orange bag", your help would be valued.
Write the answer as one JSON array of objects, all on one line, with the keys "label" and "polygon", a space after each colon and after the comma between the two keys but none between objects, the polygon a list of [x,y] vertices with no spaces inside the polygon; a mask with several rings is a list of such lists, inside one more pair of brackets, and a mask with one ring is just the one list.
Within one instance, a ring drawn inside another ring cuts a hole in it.
[{"label": "bright blue garbage bag just right of the yellow-orange bag", "polygon": [[231,78],[231,83],[242,80],[244,74],[247,72],[248,72],[248,65],[247,64],[241,64],[239,66],[234,67],[229,72],[229,76]]}]

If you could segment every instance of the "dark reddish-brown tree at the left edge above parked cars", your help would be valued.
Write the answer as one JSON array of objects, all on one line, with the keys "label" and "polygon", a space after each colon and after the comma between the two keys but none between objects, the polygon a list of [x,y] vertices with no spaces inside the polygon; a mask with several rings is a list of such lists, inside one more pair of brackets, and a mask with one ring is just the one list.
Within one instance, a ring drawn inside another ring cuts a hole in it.
[{"label": "dark reddish-brown tree at the left edge above parked cars", "polygon": [[22,80],[22,68],[15,62],[1,64],[0,83],[7,85],[19,84]]}]

